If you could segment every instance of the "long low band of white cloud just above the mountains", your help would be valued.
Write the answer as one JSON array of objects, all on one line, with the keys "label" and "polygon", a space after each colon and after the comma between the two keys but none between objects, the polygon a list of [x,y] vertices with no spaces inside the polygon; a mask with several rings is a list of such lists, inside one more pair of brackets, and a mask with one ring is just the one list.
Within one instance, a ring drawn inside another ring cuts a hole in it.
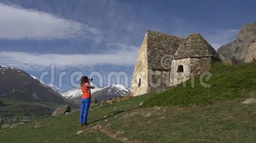
[{"label": "long low band of white cloud just above the mountains", "polygon": [[113,50],[105,54],[35,54],[26,52],[2,51],[0,64],[41,71],[55,64],[57,68],[86,67],[95,65],[133,66],[136,63],[139,47]]}]

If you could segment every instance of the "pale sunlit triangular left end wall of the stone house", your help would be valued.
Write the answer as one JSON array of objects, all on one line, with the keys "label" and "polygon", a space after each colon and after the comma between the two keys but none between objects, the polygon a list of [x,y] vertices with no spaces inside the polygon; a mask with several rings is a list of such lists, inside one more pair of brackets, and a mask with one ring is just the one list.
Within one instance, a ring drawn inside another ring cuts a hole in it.
[{"label": "pale sunlit triangular left end wall of the stone house", "polygon": [[[131,85],[131,96],[138,96],[141,94],[147,93],[148,89],[148,68],[147,68],[147,33],[144,37],[143,43],[139,49],[139,55],[137,58],[137,62],[134,68],[133,76],[132,76],[132,85]],[[140,86],[138,86],[138,82],[140,79]]]}]

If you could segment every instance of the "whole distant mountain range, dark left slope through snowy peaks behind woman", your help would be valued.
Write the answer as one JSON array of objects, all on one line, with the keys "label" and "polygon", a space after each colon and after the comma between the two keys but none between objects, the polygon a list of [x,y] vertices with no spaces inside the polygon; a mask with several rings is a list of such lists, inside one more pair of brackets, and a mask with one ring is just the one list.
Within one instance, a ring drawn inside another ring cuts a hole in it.
[{"label": "whole distant mountain range, dark left slope through snowy peaks behind woman", "polygon": [[[128,95],[130,91],[121,84],[115,84],[92,89],[91,93],[92,98],[101,102],[110,97]],[[69,104],[73,109],[79,107],[81,97],[80,87],[64,92],[63,89],[45,84],[21,69],[0,65],[0,117],[49,116],[57,105]]]}]

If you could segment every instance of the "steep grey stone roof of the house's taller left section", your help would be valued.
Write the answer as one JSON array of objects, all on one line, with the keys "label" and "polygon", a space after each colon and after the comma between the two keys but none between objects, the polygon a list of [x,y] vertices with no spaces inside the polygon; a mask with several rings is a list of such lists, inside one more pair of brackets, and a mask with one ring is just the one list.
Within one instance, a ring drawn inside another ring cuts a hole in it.
[{"label": "steep grey stone roof of the house's taller left section", "polygon": [[183,38],[149,30],[146,36],[148,68],[168,70],[162,67],[161,59],[166,55],[174,56]]}]

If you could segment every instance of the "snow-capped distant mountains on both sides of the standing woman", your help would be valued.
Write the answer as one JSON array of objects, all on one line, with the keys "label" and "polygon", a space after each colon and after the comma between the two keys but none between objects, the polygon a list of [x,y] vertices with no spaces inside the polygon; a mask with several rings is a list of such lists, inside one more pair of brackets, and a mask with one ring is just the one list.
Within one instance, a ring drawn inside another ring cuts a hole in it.
[{"label": "snow-capped distant mountains on both sides of the standing woman", "polygon": [[[118,98],[123,95],[128,95],[130,93],[130,90],[122,84],[114,84],[103,88],[96,87],[95,89],[91,89],[91,93],[92,98],[95,98],[99,102],[101,102],[102,100],[107,100],[110,97]],[[83,93],[79,86],[73,87],[72,89],[62,93],[61,95],[79,104],[82,94]]]}]

